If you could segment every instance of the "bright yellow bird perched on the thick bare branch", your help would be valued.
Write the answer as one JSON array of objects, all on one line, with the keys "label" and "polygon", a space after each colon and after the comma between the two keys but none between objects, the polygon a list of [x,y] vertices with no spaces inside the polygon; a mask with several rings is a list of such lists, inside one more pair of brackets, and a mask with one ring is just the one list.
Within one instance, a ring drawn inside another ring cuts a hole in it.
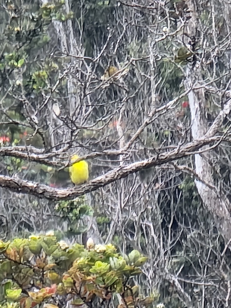
[{"label": "bright yellow bird perched on the thick bare branch", "polygon": [[[78,155],[71,156],[71,163],[79,158]],[[83,184],[87,182],[89,173],[88,173],[88,164],[86,160],[81,160],[78,163],[73,164],[69,167],[69,172],[71,180],[74,184]]]}]

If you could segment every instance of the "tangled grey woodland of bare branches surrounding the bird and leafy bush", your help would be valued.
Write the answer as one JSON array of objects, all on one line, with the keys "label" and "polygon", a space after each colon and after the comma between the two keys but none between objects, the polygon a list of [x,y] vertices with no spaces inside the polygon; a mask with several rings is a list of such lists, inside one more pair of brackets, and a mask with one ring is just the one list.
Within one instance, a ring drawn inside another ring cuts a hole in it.
[{"label": "tangled grey woodland of bare branches surrounding the bird and leafy bush", "polygon": [[[0,238],[136,249],[153,307],[229,307],[230,14],[228,1],[0,0]],[[82,188],[73,153],[89,163]]]}]

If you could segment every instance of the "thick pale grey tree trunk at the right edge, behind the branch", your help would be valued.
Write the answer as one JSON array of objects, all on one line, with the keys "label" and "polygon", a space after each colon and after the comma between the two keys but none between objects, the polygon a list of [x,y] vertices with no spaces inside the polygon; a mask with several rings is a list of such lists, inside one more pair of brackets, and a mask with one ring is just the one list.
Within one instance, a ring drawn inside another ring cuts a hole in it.
[{"label": "thick pale grey tree trunk at the right edge, behind the branch", "polygon": [[[197,22],[197,13],[193,2],[188,0],[187,4],[192,12],[192,18],[187,24],[187,33],[192,38],[196,36],[196,29],[199,24]],[[200,64],[196,63],[194,68],[186,69],[186,79],[184,82],[186,90],[192,88],[188,93],[188,100],[191,112],[191,133],[193,140],[197,140],[205,136],[205,134],[213,136],[221,126],[224,116],[229,113],[231,108],[231,100],[229,100],[208,131],[205,119],[205,86],[201,86],[198,80],[202,80],[202,74]],[[207,131],[208,133],[206,133]],[[195,184],[203,201],[203,205],[213,214],[222,236],[226,242],[229,242],[231,240],[231,207],[228,198],[220,193],[218,188],[213,184],[213,168],[211,164],[209,164],[212,155],[213,150],[195,155],[195,172],[200,179],[203,179],[203,182],[196,179]],[[211,184],[214,186],[213,189],[210,186]]]}]

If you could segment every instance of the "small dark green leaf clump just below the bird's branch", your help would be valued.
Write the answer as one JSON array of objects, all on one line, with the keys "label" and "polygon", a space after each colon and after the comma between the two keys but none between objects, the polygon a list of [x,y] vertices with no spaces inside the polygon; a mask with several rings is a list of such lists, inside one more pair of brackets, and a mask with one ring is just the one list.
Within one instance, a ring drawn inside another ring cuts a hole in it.
[{"label": "small dark green leaf clump just below the bird's branch", "polygon": [[93,210],[87,204],[85,196],[80,196],[70,201],[59,201],[55,205],[55,210],[63,218],[68,218],[70,222],[79,220],[84,216],[92,216]]}]

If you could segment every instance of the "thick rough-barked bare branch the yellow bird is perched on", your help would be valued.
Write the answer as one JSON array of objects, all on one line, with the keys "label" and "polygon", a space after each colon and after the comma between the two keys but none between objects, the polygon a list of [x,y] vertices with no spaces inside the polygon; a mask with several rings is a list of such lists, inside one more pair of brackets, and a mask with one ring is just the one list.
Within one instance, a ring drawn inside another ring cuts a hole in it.
[{"label": "thick rough-barked bare branch the yellow bird is perched on", "polygon": [[[98,176],[94,180],[91,180],[88,184],[81,185],[78,188],[54,189],[47,185],[20,180],[17,176],[0,176],[0,186],[9,188],[10,190],[19,193],[29,193],[39,198],[46,198],[50,200],[70,200],[85,193],[94,191],[99,187],[105,186],[115,180],[124,178],[129,174],[138,172],[142,169],[159,166],[185,156],[201,153],[199,150],[200,148],[208,144],[213,144],[214,142],[219,143],[220,140],[222,140],[221,136],[209,138],[203,137],[199,140],[189,142],[188,144],[178,147],[170,152],[160,153],[146,160],[141,160],[132,164],[114,168],[106,174]],[[203,149],[203,152],[208,150],[209,148]]]}]

